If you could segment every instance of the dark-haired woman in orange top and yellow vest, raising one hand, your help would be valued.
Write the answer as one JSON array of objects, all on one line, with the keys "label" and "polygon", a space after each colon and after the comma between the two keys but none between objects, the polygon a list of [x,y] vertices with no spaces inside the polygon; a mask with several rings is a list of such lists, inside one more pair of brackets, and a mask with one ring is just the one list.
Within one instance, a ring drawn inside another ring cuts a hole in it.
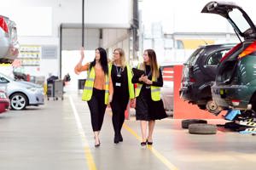
[{"label": "dark-haired woman in orange top and yellow vest, raising one hand", "polygon": [[75,73],[87,72],[82,99],[87,101],[90,109],[91,126],[94,132],[95,146],[100,146],[99,134],[106,107],[113,96],[113,84],[108,69],[108,57],[104,48],[96,48],[95,59],[82,65],[84,60],[84,48],[81,49],[81,59],[75,66]]}]

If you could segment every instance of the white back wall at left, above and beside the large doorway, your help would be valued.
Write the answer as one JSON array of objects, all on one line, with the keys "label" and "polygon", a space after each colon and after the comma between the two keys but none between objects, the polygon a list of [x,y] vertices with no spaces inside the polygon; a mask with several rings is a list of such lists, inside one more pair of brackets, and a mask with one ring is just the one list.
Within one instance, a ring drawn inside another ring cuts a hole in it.
[{"label": "white back wall at left, above and beside the large doorway", "polygon": [[[85,0],[84,24],[108,24],[130,27],[131,0]],[[82,22],[81,0],[7,0],[1,1],[0,14],[17,24],[22,45],[59,46],[61,23]],[[59,74],[57,59],[42,59],[40,68],[28,67],[32,75]],[[73,69],[73,65],[70,65]]]}]

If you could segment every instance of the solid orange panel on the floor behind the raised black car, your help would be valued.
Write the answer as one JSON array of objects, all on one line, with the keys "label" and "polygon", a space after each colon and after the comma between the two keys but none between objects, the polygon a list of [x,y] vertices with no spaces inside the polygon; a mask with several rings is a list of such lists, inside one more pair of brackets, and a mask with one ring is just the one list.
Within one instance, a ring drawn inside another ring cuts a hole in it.
[{"label": "solid orange panel on the floor behind the raised black car", "polygon": [[219,119],[222,118],[226,111],[222,111],[218,116],[212,115],[208,111],[203,111],[197,105],[189,104],[179,97],[179,89],[181,85],[181,77],[183,65],[174,66],[174,104],[173,104],[173,118],[174,119]]}]

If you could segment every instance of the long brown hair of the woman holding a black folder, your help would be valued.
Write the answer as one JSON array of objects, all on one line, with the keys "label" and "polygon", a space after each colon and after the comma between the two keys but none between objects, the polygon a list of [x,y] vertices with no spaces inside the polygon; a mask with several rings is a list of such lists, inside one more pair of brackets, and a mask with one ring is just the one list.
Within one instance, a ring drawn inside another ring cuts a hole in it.
[{"label": "long brown hair of the woman holding a black folder", "polygon": [[[148,53],[149,61],[150,61],[150,68],[152,72],[152,77],[158,78],[160,76],[159,73],[159,68],[157,65],[157,59],[156,59],[156,54],[154,52],[154,49],[146,49],[144,53]],[[144,63],[145,66],[145,63]],[[145,68],[145,67],[144,67]]]}]

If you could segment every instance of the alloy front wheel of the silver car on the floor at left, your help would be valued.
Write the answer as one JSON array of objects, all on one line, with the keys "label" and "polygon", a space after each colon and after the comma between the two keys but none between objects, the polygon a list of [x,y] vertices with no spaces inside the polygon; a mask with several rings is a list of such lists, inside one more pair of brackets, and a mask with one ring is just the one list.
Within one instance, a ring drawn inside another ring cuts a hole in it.
[{"label": "alloy front wheel of the silver car on the floor at left", "polygon": [[10,106],[13,110],[20,111],[26,108],[27,98],[25,94],[13,94],[10,97]]}]

